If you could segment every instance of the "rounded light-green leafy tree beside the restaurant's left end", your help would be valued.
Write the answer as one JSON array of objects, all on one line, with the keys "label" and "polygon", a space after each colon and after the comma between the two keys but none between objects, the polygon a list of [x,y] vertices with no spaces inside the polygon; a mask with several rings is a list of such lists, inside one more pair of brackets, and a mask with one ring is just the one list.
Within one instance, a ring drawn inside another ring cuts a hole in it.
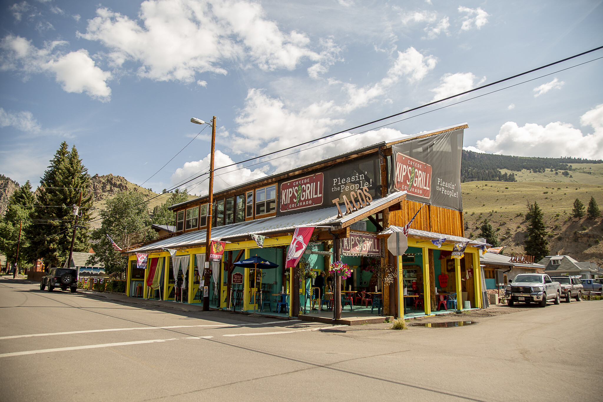
[{"label": "rounded light-green leafy tree beside the restaurant's left end", "polygon": [[[92,231],[90,237],[94,243],[95,254],[90,256],[86,263],[90,265],[103,263],[108,274],[124,272],[128,259],[113,249],[107,234],[124,250],[128,246],[128,239],[132,240],[129,244],[131,245],[132,242],[151,240],[156,237],[157,234],[153,231],[140,233],[150,227],[148,201],[140,192],[124,190],[107,199],[106,209],[98,215],[103,220],[103,224]],[[140,236],[134,239],[133,233],[139,233]]]}]

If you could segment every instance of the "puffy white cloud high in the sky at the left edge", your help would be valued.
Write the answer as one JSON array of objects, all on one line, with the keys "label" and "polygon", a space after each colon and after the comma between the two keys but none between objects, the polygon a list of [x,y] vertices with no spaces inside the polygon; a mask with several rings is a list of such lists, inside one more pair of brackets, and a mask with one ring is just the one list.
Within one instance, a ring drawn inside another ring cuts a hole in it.
[{"label": "puffy white cloud high in the sky at the left edge", "polygon": [[42,49],[36,48],[20,36],[8,35],[0,41],[0,71],[19,71],[25,75],[46,72],[56,77],[66,92],[86,92],[92,98],[106,102],[110,100],[111,89],[107,81],[110,72],[95,66],[88,52],[80,49],[63,54],[57,50],[66,42],[46,43]]}]

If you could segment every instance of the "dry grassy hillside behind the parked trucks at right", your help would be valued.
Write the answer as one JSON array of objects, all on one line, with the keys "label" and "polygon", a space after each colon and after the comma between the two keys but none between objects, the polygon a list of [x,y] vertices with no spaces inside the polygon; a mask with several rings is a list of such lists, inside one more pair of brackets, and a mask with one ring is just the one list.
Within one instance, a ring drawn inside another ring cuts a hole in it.
[{"label": "dry grassy hillside behind the parked trucks at right", "polygon": [[[538,203],[549,231],[551,254],[568,254],[579,261],[603,265],[603,220],[570,218],[573,202],[585,206],[593,196],[603,210],[603,165],[574,164],[569,175],[546,171],[516,172],[516,182],[469,181],[463,183],[465,234],[478,237],[484,219],[497,230],[505,254],[523,253],[527,203]],[[503,170],[504,172],[504,170]]]}]

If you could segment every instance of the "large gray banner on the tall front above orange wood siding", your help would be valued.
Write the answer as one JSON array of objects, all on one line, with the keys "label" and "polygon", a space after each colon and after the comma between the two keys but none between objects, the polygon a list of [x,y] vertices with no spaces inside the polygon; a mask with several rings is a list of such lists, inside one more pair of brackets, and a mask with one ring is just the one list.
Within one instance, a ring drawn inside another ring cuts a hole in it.
[{"label": "large gray banner on the tall front above orange wood siding", "polygon": [[390,192],[406,190],[412,201],[462,211],[463,131],[393,145]]}]

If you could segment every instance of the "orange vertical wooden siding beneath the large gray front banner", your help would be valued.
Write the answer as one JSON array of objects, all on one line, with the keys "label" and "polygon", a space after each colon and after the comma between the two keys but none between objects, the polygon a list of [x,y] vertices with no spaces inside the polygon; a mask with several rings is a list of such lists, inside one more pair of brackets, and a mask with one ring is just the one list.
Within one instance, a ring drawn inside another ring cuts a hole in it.
[{"label": "orange vertical wooden siding beneath the large gray front banner", "polygon": [[452,209],[434,207],[405,199],[402,210],[390,212],[390,225],[404,226],[423,206],[412,222],[411,228],[452,236],[463,236],[463,213]]}]

